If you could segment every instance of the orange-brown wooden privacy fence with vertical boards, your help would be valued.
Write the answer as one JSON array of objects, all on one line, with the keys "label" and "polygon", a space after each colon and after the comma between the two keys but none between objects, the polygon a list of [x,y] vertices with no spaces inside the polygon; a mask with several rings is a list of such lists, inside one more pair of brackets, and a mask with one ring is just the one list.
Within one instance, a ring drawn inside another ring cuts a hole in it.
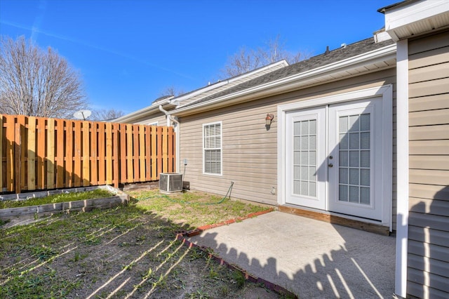
[{"label": "orange-brown wooden privacy fence with vertical boards", "polygon": [[144,126],[0,114],[0,192],[159,180],[175,133]]}]

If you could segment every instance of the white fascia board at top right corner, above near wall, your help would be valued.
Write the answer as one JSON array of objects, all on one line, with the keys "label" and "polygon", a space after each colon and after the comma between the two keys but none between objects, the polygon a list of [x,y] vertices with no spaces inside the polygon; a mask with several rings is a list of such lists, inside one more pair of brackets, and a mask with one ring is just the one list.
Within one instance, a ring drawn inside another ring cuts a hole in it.
[{"label": "white fascia board at top right corner, above near wall", "polygon": [[448,12],[449,1],[447,0],[417,1],[393,7],[385,11],[385,31],[398,41],[399,38],[395,33],[397,29]]}]

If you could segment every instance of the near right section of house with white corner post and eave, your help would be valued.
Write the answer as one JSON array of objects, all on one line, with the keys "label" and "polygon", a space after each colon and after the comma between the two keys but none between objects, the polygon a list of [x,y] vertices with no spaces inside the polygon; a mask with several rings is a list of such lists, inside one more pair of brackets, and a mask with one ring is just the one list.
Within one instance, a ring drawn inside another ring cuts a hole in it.
[{"label": "near right section of house with white corner post and eave", "polygon": [[449,293],[449,1],[380,10],[397,44],[396,293]]}]

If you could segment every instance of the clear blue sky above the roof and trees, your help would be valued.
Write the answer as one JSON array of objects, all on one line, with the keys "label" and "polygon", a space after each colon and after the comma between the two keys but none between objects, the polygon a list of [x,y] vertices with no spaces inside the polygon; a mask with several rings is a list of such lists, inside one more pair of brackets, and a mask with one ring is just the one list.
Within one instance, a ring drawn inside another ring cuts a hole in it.
[{"label": "clear blue sky above the roof and trees", "polygon": [[218,79],[239,48],[281,36],[318,55],[373,35],[395,0],[0,0],[0,34],[51,46],[81,73],[94,109],[130,113],[164,88]]}]

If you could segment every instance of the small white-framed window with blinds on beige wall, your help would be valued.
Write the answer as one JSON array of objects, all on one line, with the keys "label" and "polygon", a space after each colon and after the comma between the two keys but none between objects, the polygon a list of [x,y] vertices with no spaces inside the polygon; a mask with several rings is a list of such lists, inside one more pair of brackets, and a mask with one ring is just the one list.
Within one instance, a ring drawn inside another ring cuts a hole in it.
[{"label": "small white-framed window with blinds on beige wall", "polygon": [[203,173],[222,174],[222,123],[203,124]]}]

